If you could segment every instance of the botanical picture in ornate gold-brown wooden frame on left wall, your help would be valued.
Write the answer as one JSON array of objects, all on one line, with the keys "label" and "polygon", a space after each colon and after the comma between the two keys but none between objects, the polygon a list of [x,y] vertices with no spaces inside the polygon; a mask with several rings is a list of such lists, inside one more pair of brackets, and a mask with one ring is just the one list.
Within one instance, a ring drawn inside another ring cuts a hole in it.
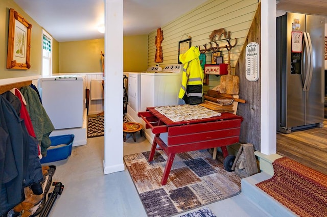
[{"label": "botanical picture in ornate gold-brown wooden frame on left wall", "polygon": [[7,69],[29,69],[32,24],[17,11],[9,11]]}]

